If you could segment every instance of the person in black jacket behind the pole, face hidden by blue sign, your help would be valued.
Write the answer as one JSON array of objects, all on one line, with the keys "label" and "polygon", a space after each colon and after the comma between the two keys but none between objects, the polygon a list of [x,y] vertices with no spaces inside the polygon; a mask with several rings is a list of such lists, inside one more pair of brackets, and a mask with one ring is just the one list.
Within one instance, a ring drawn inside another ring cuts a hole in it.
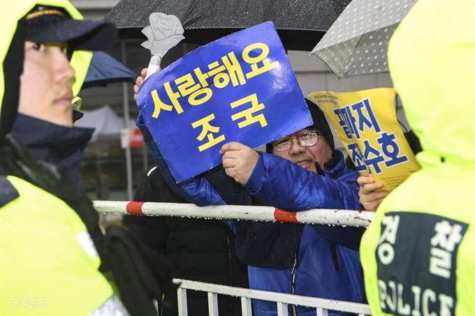
[{"label": "person in black jacket behind the pole, face hidden by blue sign", "polygon": [[[158,168],[142,175],[137,202],[188,203],[166,183]],[[173,264],[174,276],[185,280],[249,288],[247,266],[236,256],[234,234],[221,220],[170,216],[128,216],[129,231]],[[188,291],[188,315],[208,315],[207,294]],[[219,296],[219,315],[241,314],[238,297]],[[178,315],[177,293],[166,292],[163,316]]]}]

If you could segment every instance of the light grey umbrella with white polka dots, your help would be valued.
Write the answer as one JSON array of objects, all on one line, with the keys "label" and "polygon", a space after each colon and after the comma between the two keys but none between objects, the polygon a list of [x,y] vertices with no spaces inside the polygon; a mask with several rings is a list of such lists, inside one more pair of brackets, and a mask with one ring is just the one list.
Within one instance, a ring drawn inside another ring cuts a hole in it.
[{"label": "light grey umbrella with white polka dots", "polygon": [[312,50],[338,79],[388,71],[388,43],[417,0],[353,0]]}]

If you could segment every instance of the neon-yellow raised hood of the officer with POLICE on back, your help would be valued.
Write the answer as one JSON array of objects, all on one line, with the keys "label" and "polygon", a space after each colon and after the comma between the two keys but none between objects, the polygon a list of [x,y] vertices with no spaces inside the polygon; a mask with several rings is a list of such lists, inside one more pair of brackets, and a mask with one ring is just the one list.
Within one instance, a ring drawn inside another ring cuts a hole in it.
[{"label": "neon-yellow raised hood of the officer with POLICE on back", "polygon": [[390,75],[421,166],[475,162],[474,12],[474,1],[419,0],[390,40]]}]

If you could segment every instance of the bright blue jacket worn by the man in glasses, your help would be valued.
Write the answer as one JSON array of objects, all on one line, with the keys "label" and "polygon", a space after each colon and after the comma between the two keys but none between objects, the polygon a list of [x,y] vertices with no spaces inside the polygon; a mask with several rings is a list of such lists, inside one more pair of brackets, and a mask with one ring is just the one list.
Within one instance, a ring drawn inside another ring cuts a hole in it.
[{"label": "bright blue jacket worn by the man in glasses", "polygon": [[[163,176],[178,195],[198,206],[226,204],[205,176],[177,184],[140,116],[137,126]],[[265,204],[286,211],[360,209],[358,172],[346,167],[340,151],[335,151],[335,156],[337,163],[332,170],[316,174],[284,158],[260,152],[254,172],[244,187]],[[321,227],[303,225],[295,261],[288,267],[249,265],[251,289],[365,303],[359,252],[335,243],[332,237],[338,236],[319,233]],[[342,233],[342,228],[335,228],[335,232]],[[277,315],[277,304],[253,303],[256,315]],[[298,306],[296,309],[298,315],[316,315],[313,308]],[[344,314],[330,312],[329,315]]]}]

